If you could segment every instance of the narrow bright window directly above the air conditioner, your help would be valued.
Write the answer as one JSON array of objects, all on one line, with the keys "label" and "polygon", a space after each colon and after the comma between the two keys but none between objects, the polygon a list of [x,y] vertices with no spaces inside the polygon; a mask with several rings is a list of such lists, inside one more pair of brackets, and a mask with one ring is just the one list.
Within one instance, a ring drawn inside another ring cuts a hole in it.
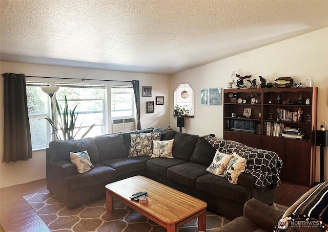
[{"label": "narrow bright window directly above the air conditioner", "polygon": [[111,86],[112,119],[133,118],[134,115],[133,87],[127,85]]}]

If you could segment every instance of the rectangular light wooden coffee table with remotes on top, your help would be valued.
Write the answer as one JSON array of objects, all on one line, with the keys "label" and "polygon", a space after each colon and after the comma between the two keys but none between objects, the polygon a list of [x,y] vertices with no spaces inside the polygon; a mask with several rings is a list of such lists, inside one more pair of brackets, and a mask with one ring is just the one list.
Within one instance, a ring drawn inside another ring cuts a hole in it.
[{"label": "rectangular light wooden coffee table with remotes on top", "polygon": [[[148,192],[148,202],[131,200],[136,192]],[[107,213],[113,213],[113,197],[135,211],[175,232],[176,228],[198,217],[198,230],[206,229],[207,203],[181,193],[145,176],[133,176],[106,185]]]}]

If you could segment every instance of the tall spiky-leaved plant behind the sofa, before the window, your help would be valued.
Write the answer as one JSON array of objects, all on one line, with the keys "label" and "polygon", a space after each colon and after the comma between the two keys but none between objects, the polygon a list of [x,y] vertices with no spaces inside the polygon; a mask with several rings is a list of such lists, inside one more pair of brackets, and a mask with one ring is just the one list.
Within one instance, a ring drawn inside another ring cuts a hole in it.
[{"label": "tall spiky-leaved plant behind the sofa, before the window", "polygon": [[[55,134],[56,134],[56,138],[57,140],[74,140],[76,134],[80,131],[80,129],[82,128],[82,123],[79,125],[79,127],[77,128],[76,132],[74,133],[74,129],[75,129],[75,122],[78,116],[78,111],[76,111],[75,113],[75,109],[77,107],[77,104],[74,106],[73,109],[68,109],[68,104],[67,104],[67,98],[65,96],[65,107],[64,109],[59,106],[57,100],[56,100],[56,109],[57,109],[57,113],[59,115],[60,120],[57,120],[57,124],[58,124],[58,128],[55,127]],[[44,118],[46,119],[51,126],[53,126],[53,122],[52,119],[48,118]],[[91,125],[87,131],[80,137],[80,138],[84,138],[89,132],[90,130],[94,127],[95,124]],[[60,136],[61,135],[61,136]]]}]

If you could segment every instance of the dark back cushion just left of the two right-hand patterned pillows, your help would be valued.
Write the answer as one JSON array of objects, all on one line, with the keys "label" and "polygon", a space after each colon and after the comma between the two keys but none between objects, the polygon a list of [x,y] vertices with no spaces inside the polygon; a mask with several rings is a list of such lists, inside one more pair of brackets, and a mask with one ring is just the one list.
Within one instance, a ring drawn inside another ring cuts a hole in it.
[{"label": "dark back cushion just left of the two right-hand patterned pillows", "polygon": [[205,138],[199,137],[190,161],[208,167],[213,161],[215,152],[216,149]]}]

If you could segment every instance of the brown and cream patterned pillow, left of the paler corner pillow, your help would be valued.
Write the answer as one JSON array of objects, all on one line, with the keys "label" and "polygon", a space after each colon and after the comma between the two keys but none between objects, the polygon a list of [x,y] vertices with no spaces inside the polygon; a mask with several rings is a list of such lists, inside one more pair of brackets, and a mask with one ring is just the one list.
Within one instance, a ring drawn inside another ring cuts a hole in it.
[{"label": "brown and cream patterned pillow, left of the paler corner pillow", "polygon": [[131,134],[130,157],[151,156],[153,154],[153,133]]}]

